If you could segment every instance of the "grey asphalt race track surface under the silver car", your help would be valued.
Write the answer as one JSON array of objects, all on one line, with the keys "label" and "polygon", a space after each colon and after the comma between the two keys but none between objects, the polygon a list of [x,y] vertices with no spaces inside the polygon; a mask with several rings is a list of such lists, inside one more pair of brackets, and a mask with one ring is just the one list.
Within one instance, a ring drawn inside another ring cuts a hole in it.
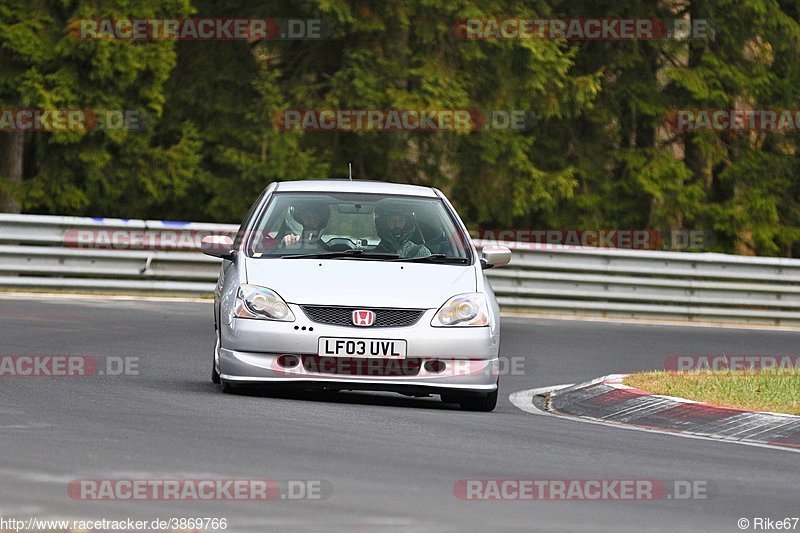
[{"label": "grey asphalt race track surface under the silver car", "polygon": [[[224,517],[227,531],[739,531],[800,516],[800,454],[528,414],[512,392],[661,368],[674,354],[797,354],[800,333],[506,318],[494,413],[438,398],[222,394],[210,303],[0,299],[0,355],[138,358],[138,375],[6,377],[0,514]],[[83,501],[70,481],[325,480],[323,500]],[[706,500],[463,501],[462,479],[704,480]],[[800,529],[800,526],[798,526]]]}]

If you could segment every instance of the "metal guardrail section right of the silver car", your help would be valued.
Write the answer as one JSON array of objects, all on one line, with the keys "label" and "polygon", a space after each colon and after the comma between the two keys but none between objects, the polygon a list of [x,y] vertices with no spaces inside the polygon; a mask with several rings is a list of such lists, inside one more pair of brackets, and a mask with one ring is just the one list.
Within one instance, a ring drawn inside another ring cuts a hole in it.
[{"label": "metal guardrail section right of the silver car", "polygon": [[800,260],[511,244],[490,271],[506,308],[800,325]]}]

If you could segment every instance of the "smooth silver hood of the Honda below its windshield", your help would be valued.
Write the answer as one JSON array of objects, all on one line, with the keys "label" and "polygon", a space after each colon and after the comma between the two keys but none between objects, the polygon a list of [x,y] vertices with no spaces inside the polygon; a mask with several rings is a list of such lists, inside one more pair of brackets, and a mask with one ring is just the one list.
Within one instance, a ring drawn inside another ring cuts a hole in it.
[{"label": "smooth silver hood of the Honda below its windshield", "polygon": [[246,267],[248,283],[305,305],[434,309],[477,284],[470,265],[247,258]]}]

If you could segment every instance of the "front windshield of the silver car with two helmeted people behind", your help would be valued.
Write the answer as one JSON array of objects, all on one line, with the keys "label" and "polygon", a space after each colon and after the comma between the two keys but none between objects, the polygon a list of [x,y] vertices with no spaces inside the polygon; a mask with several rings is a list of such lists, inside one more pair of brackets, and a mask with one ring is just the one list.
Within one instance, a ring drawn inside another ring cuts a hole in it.
[{"label": "front windshield of the silver car with two helmeted people behind", "polygon": [[439,198],[275,193],[247,251],[262,259],[329,258],[467,264],[466,236]]}]

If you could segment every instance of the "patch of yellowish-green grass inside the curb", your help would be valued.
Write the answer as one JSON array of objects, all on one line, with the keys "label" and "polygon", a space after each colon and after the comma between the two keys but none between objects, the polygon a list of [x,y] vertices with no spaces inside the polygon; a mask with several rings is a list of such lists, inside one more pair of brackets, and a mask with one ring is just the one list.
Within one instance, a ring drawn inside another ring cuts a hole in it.
[{"label": "patch of yellowish-green grass inside the curb", "polygon": [[800,369],[642,372],[625,385],[726,407],[800,415]]}]

